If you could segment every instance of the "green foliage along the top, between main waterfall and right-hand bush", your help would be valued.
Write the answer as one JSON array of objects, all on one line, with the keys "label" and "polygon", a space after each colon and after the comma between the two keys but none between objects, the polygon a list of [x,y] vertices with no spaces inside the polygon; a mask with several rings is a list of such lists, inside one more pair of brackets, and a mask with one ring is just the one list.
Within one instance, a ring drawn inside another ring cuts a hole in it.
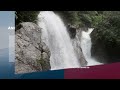
[{"label": "green foliage along the top, between main waterfall and right-hand bush", "polygon": [[58,11],[66,23],[78,27],[95,27],[102,21],[102,13],[97,11]]}]

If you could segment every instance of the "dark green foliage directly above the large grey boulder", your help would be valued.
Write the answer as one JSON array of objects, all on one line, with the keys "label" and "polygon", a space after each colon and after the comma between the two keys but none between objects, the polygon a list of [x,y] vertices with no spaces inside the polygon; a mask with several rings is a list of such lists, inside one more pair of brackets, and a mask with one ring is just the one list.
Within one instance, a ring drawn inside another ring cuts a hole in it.
[{"label": "dark green foliage directly above the large grey boulder", "polygon": [[16,25],[21,22],[36,22],[39,11],[16,11]]}]

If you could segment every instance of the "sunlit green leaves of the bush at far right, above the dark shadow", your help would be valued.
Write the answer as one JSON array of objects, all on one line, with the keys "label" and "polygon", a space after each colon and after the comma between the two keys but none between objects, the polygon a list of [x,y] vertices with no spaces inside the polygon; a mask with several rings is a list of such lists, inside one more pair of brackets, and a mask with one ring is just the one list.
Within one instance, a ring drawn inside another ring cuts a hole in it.
[{"label": "sunlit green leaves of the bush at far right, above the dark shadow", "polygon": [[104,12],[104,20],[95,28],[96,39],[102,39],[106,43],[120,44],[120,12]]}]

